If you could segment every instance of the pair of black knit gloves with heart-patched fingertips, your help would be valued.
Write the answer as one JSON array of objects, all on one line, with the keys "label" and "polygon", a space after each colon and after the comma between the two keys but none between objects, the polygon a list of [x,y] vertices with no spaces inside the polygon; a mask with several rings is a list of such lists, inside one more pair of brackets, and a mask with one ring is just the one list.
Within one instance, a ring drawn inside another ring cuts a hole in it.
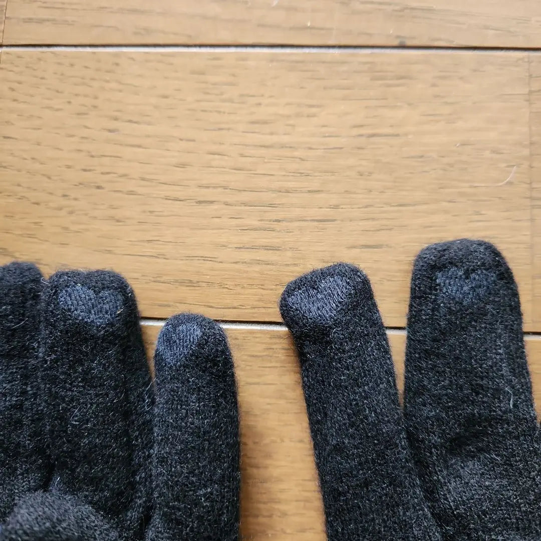
[{"label": "pair of black knit gloves with heart-patched fingertips", "polygon": [[[516,283],[492,245],[415,261],[404,409],[370,282],[289,283],[331,541],[539,541],[541,441]],[[120,276],[0,269],[0,540],[239,538],[239,412],[219,325],[170,318],[155,384]]]}]

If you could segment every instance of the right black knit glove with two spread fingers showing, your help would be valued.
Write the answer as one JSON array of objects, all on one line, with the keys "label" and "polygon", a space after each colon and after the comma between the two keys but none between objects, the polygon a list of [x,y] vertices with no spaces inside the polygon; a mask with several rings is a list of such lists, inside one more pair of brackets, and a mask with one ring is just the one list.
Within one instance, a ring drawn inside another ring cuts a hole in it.
[{"label": "right black knit glove with two spread fingers showing", "polygon": [[329,541],[539,541],[539,426],[517,286],[492,245],[415,261],[404,414],[365,274],[340,263],[291,282]]}]

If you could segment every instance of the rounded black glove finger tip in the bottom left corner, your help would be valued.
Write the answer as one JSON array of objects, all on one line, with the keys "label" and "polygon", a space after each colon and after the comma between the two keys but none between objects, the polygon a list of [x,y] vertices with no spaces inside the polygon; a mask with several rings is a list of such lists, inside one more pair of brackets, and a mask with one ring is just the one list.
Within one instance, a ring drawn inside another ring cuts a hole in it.
[{"label": "rounded black glove finger tip in the bottom left corner", "polygon": [[88,505],[75,498],[34,492],[21,498],[0,530],[0,541],[118,541]]}]

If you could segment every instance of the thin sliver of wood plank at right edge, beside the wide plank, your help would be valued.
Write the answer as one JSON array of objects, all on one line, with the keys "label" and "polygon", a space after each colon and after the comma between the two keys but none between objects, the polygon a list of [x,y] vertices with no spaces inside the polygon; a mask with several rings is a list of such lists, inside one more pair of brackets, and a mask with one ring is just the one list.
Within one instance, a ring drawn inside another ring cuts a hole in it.
[{"label": "thin sliver of wood plank at right edge, beside the wide plank", "polygon": [[532,183],[533,320],[541,327],[541,57],[530,55],[530,160]]}]

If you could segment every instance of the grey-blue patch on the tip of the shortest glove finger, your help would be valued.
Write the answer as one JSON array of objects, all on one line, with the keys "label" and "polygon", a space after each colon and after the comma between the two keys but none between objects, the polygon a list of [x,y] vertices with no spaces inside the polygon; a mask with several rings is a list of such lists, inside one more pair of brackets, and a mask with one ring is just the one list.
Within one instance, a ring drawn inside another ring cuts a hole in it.
[{"label": "grey-blue patch on the tip of the shortest glove finger", "polygon": [[163,326],[157,340],[156,350],[166,362],[185,357],[194,349],[203,335],[201,318],[198,316],[175,316]]}]

